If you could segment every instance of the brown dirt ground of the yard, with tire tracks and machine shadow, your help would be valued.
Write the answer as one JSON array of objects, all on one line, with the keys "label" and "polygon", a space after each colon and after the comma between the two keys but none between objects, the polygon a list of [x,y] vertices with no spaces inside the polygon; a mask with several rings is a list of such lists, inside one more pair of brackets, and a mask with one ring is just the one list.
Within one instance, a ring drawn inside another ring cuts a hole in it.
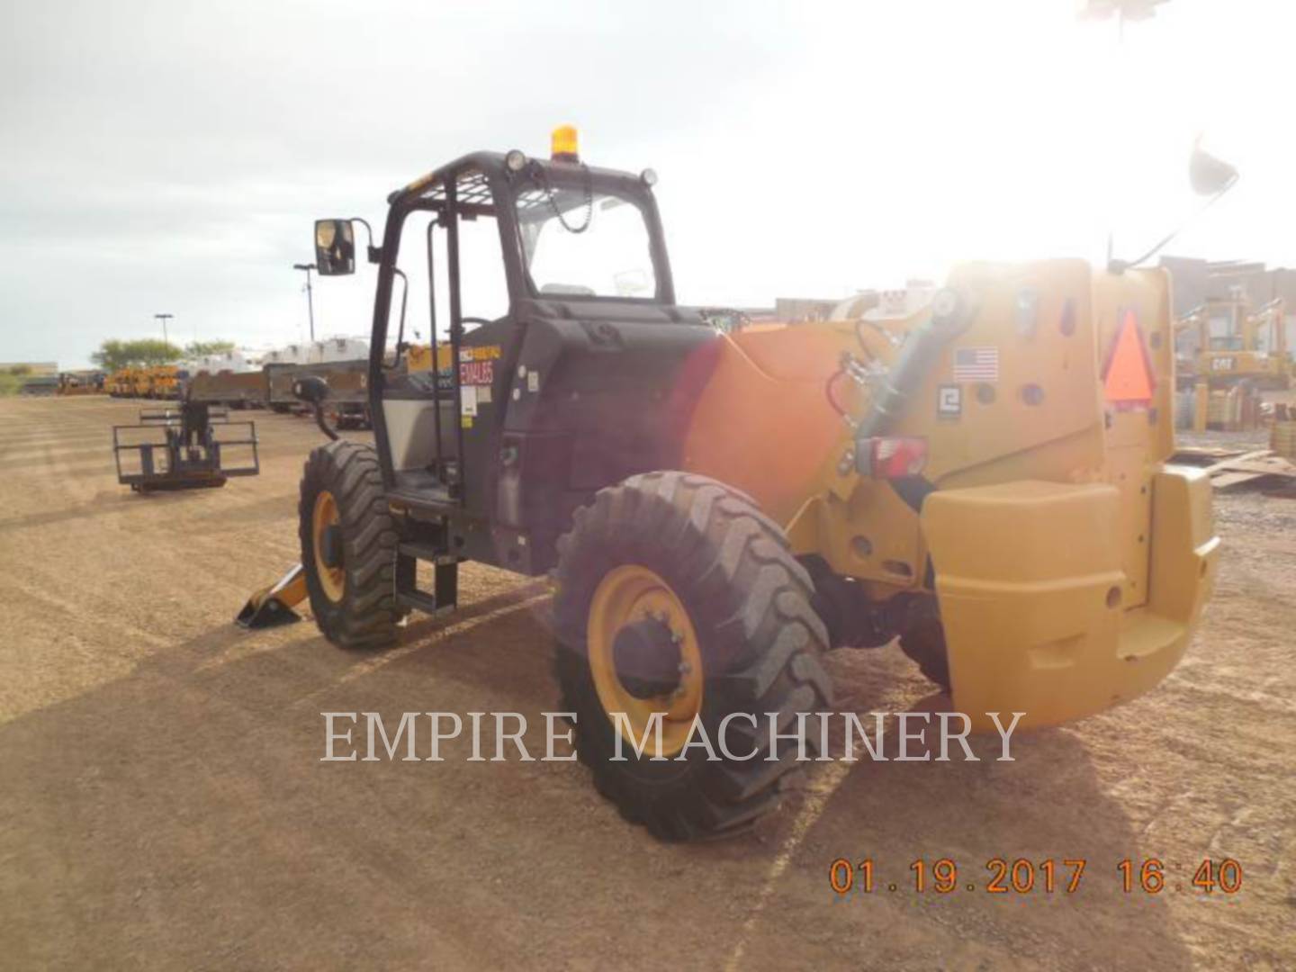
[{"label": "brown dirt ground of the yard, with tire tracks and machine shadow", "polygon": [[[255,412],[259,477],[137,496],[109,448],[136,408],[0,400],[5,967],[1296,967],[1293,500],[1217,499],[1217,595],[1151,695],[1011,763],[994,739],[976,763],[824,763],[750,836],[664,846],[577,763],[320,762],[330,710],[515,710],[543,750],[544,586],[468,566],[463,609],[384,653],[242,631],[297,560],[320,435]],[[829,666],[839,709],[931,691],[894,647]],[[837,896],[839,857],[872,858],[876,890]],[[915,892],[919,858],[955,861],[956,890]],[[1073,894],[990,894],[991,858],[1087,866]],[[1126,858],[1165,889],[1125,893]],[[1194,888],[1205,858],[1242,889]]]}]

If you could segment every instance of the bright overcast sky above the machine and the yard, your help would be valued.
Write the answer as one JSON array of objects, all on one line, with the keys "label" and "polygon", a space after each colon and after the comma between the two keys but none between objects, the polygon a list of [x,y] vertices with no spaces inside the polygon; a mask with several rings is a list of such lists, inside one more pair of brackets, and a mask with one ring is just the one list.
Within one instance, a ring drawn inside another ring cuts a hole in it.
[{"label": "bright overcast sky above the machine and the yard", "polygon": [[[0,23],[0,360],[106,337],[299,340],[311,220],[473,149],[654,167],[677,290],[759,306],[959,259],[1133,255],[1194,206],[1194,137],[1242,171],[1172,251],[1296,264],[1292,4],[1170,0],[67,3]],[[368,268],[320,281],[365,334]],[[467,311],[465,311],[467,312]]]}]

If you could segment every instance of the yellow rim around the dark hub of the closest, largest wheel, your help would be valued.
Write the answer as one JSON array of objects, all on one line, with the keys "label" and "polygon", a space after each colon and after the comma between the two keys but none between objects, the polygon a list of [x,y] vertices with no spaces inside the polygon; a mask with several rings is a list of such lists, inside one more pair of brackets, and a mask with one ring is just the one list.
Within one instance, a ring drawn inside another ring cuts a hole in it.
[{"label": "yellow rim around the dark hub of the closest, largest wheel", "polygon": [[[638,699],[621,683],[612,645],[622,627],[645,618],[666,625],[679,649],[678,687],[666,695]],[[594,592],[586,639],[594,687],[608,719],[622,731],[613,713],[625,713],[638,745],[644,740],[653,713],[661,713],[661,746],[656,734],[647,737],[644,756],[671,757],[688,740],[693,718],[702,710],[702,653],[697,632],[683,603],[661,577],[648,568],[627,564],[608,573]]]}]

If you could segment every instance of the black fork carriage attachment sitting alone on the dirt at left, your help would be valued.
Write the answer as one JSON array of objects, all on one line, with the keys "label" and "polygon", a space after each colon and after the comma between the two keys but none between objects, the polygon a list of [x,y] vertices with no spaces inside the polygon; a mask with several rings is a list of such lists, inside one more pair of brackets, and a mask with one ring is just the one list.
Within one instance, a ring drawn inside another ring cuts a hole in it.
[{"label": "black fork carriage attachment sitting alone on the dirt at left", "polygon": [[[242,465],[226,465],[223,457],[228,450],[246,450],[250,459]],[[132,467],[127,459],[123,468],[123,454],[135,455],[137,463]],[[114,425],[113,457],[117,481],[136,492],[224,486],[231,476],[260,472],[255,424],[231,422],[227,410],[201,402],[184,402],[179,408],[146,408],[140,412],[139,424]]]}]

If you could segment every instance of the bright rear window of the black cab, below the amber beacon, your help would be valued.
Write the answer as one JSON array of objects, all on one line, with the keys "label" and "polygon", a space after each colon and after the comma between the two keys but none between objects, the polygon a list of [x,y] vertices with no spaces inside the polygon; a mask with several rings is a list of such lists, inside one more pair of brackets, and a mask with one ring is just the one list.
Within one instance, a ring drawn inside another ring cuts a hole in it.
[{"label": "bright rear window of the black cab, below the amber beacon", "polygon": [[552,185],[531,176],[517,196],[522,260],[542,295],[657,295],[651,235],[629,196],[595,189],[588,180]]}]

